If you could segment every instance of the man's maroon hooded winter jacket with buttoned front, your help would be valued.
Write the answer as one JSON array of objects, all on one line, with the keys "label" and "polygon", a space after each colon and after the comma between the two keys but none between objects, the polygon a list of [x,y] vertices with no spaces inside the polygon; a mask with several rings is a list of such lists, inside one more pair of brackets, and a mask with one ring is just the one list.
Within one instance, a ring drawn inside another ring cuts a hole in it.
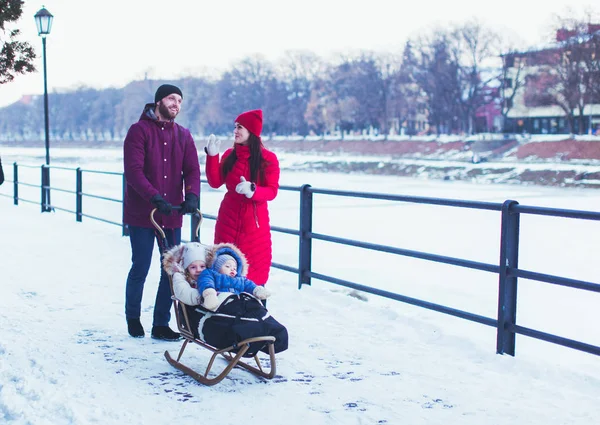
[{"label": "man's maroon hooded winter jacket with buttoned front", "polygon": [[[123,222],[132,226],[153,227],[150,199],[160,194],[177,206],[185,193],[200,197],[200,165],[194,139],[189,130],[173,121],[158,121],[153,103],[144,107],[140,120],[133,124],[123,144],[123,165],[127,185],[123,200]],[[180,228],[182,216],[155,214],[166,229]]]}]

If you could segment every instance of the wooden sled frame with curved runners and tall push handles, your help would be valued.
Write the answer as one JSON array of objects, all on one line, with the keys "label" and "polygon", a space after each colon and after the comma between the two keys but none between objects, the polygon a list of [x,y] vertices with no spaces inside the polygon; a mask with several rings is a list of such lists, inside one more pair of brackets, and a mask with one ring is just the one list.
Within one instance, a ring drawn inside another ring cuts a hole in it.
[{"label": "wooden sled frame with curved runners and tall push handles", "polygon": [[[173,207],[174,210],[178,209],[178,207]],[[150,221],[156,228],[158,234],[161,237],[161,243],[163,244],[163,252],[166,252],[170,246],[167,241],[165,232],[161,229],[161,227],[154,220],[154,214],[156,212],[156,208],[152,210],[150,213]],[[198,220],[198,226],[196,228],[196,241],[198,240],[198,235],[200,231],[200,224],[202,223],[202,213],[198,210],[198,215],[200,219]],[[175,307],[175,318],[177,321],[177,327],[181,336],[183,337],[183,345],[179,350],[179,354],[177,358],[171,357],[171,354],[168,350],[165,351],[165,358],[176,369],[182,371],[186,375],[194,378],[196,381],[204,384],[204,385],[215,385],[221,382],[234,367],[240,367],[246,369],[247,371],[253,373],[256,376],[271,379],[275,376],[276,373],[276,362],[275,362],[275,348],[274,344],[276,338],[274,336],[259,336],[246,338],[239,342],[235,342],[232,345],[225,348],[217,348],[211,344],[208,344],[206,341],[200,338],[198,335],[198,321],[199,317],[205,314],[212,314],[208,310],[203,309],[200,306],[189,306],[181,301],[179,301],[173,291],[173,279],[172,276],[169,275],[169,282],[171,285],[171,298],[173,299],[173,304]],[[212,356],[208,362],[204,373],[197,372],[192,368],[183,364],[180,360],[183,356],[183,353],[188,346],[189,343],[192,345],[198,345],[202,348],[205,348],[212,352]],[[261,351],[266,352],[269,355],[268,368],[263,368],[260,359],[258,357],[258,348]],[[215,359],[220,357],[224,359],[226,362],[226,366],[222,368],[222,370],[218,373],[211,372],[213,365],[215,363]],[[243,358],[253,358],[256,365],[252,365],[243,360]]]}]

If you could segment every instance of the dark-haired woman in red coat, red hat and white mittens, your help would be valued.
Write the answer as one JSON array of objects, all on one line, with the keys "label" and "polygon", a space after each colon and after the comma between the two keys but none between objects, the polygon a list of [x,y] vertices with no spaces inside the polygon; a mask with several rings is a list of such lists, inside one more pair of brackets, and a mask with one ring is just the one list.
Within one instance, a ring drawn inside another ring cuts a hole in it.
[{"label": "dark-haired woman in red coat, red hat and white mittens", "polygon": [[260,139],[262,111],[247,111],[235,119],[234,144],[219,160],[220,141],[206,146],[206,178],[213,188],[225,184],[215,225],[214,243],[236,245],[248,260],[248,279],[264,285],[271,268],[271,226],[267,202],[279,189],[279,160]]}]

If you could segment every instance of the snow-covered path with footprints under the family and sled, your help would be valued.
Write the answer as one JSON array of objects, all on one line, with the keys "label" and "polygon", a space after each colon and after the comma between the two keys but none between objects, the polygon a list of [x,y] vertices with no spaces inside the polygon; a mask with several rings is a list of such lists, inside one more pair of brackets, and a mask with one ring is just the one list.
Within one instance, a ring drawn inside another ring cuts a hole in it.
[{"label": "snow-covered path with footprints under the family and sled", "polygon": [[[269,308],[290,334],[277,376],[234,370],[204,387],[163,358],[179,343],[127,335],[120,229],[6,198],[0,211],[1,423],[592,425],[600,416],[595,356],[549,344],[547,355],[498,356],[493,329],[327,284],[298,290],[277,270]],[[157,255],[154,265],[147,330]],[[191,347],[184,359],[200,366],[208,354]]]}]

